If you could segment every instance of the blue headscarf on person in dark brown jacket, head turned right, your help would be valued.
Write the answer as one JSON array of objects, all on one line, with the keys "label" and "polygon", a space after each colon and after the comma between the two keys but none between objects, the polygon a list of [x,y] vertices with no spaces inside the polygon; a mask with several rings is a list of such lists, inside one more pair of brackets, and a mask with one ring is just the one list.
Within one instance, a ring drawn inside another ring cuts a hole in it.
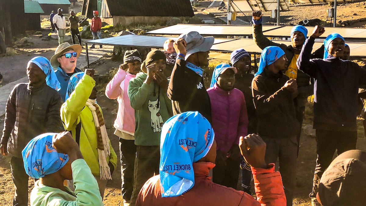
[{"label": "blue headscarf on person in dark brown jacket, head turned right", "polygon": [[285,52],[280,47],[269,46],[263,49],[261,60],[259,60],[258,72],[254,76],[258,76],[264,70],[264,67],[276,62]]}]

